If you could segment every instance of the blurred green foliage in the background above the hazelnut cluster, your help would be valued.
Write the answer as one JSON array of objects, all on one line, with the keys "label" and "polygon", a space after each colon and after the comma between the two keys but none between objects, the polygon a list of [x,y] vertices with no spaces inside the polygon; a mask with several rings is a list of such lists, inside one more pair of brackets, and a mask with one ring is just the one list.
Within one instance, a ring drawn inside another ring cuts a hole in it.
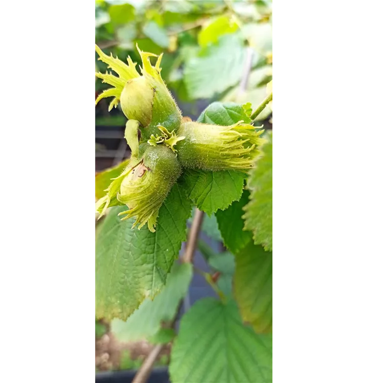
[{"label": "blurred green foliage in the background above the hazelnut cluster", "polygon": [[[164,52],[162,77],[178,105],[189,105],[184,114],[197,117],[200,99],[256,107],[272,77],[272,10],[272,0],[96,0],[95,41],[106,54],[139,64],[136,43],[146,52]],[[105,73],[97,57],[96,71]],[[97,93],[106,87],[96,79]],[[106,105],[99,108],[108,117]],[[270,113],[266,108],[261,118]]]}]

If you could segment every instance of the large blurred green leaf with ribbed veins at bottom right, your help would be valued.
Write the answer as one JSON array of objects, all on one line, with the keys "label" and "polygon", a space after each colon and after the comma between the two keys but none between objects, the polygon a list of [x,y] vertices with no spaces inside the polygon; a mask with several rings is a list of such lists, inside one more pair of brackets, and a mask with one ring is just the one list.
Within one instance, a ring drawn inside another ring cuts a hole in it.
[{"label": "large blurred green leaf with ribbed veins at bottom right", "polygon": [[272,382],[272,334],[244,327],[234,301],[197,301],[182,317],[169,366],[172,383]]}]

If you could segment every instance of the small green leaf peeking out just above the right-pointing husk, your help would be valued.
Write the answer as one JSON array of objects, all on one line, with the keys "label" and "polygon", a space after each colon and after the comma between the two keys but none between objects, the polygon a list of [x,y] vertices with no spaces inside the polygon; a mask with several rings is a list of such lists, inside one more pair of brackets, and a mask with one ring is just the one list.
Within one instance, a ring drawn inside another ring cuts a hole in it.
[{"label": "small green leaf peeking out just above the right-pointing husk", "polygon": [[[248,108],[248,106],[246,106]],[[228,126],[243,120],[245,124],[251,124],[251,118],[246,114],[244,105],[234,102],[214,102],[205,109],[197,119],[199,123]]]}]

